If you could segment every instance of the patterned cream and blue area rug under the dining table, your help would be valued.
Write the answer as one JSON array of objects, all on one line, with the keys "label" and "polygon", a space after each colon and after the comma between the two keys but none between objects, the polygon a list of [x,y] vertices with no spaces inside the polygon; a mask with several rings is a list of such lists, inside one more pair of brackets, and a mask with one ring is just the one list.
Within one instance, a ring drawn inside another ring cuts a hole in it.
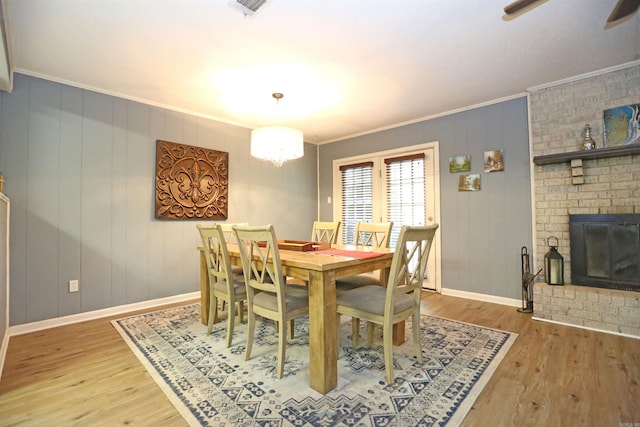
[{"label": "patterned cream and blue area rug under the dining table", "polygon": [[232,346],[226,348],[226,319],[207,335],[199,304],[112,324],[185,420],[196,426],[455,426],[517,337],[423,315],[424,363],[412,353],[408,322],[407,341],[394,348],[396,380],[389,386],[381,337],[369,346],[363,326],[361,344],[354,348],[350,319],[343,317],[338,387],[322,395],[309,387],[307,318],[295,322],[281,379],[275,377],[273,322],[258,322],[248,361],[246,324],[236,322]]}]

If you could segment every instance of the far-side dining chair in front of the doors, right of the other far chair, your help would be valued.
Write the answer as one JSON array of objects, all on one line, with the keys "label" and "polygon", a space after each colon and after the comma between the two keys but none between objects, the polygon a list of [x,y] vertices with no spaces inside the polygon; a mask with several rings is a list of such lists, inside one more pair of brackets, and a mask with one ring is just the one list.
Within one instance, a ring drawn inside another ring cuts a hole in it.
[{"label": "far-side dining chair in front of the doors, right of the other far chair", "polygon": [[[388,248],[391,242],[391,229],[393,222],[357,222],[353,236],[353,244],[358,246],[374,246],[377,248]],[[356,276],[348,276],[336,280],[336,293],[341,294],[351,289],[363,286],[382,286],[382,271],[362,273]],[[352,331],[357,344],[360,336],[360,320],[352,319]],[[369,330],[373,331],[373,324],[369,325]],[[370,332],[372,333],[372,332]]]}]

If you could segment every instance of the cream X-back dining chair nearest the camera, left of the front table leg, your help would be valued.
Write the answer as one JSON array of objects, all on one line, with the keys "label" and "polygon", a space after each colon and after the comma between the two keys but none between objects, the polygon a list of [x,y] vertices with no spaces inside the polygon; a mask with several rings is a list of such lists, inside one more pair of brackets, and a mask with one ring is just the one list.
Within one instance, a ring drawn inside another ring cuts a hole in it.
[{"label": "cream X-back dining chair nearest the camera, left of the front table leg", "polygon": [[272,225],[234,226],[247,288],[247,345],[244,358],[251,357],[256,315],[276,322],[278,332],[277,378],[282,378],[287,346],[286,326],[309,314],[308,288],[287,285],[282,274],[280,250]]}]

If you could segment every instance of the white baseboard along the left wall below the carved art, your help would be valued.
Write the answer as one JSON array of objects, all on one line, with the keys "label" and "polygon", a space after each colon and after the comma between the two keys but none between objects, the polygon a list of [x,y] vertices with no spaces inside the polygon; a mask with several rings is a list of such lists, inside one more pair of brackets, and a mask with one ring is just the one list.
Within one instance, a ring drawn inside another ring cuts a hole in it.
[{"label": "white baseboard along the left wall below the carved art", "polygon": [[[88,311],[86,313],[78,313],[78,314],[72,314],[69,316],[56,317],[54,319],[41,320],[38,322],[24,323],[22,325],[10,326],[7,337],[28,334],[30,332],[41,331],[43,329],[69,325],[71,323],[85,322],[87,320],[99,319],[101,317],[115,316],[118,314],[129,313],[131,311],[145,310],[148,308],[158,307],[161,305],[173,304],[176,302],[189,301],[192,299],[199,299],[199,298],[200,298],[200,291],[191,292],[191,293],[182,294],[182,295],[174,295],[166,298],[158,298],[158,299],[149,300],[149,301],[142,301],[142,302],[137,302],[133,304],[119,305],[117,307],[109,307],[109,308],[104,308],[102,310]],[[3,343],[3,349],[4,349],[4,343]]]}]

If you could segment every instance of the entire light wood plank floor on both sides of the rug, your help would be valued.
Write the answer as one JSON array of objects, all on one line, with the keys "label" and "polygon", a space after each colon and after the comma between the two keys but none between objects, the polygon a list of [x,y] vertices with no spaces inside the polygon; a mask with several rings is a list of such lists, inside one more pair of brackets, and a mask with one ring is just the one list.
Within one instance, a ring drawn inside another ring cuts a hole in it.
[{"label": "entire light wood plank floor on both sides of the rug", "polygon": [[[463,426],[640,425],[640,340],[497,304],[433,293],[423,302],[423,313],[520,335]],[[0,425],[186,425],[109,320],[12,337]]]}]

